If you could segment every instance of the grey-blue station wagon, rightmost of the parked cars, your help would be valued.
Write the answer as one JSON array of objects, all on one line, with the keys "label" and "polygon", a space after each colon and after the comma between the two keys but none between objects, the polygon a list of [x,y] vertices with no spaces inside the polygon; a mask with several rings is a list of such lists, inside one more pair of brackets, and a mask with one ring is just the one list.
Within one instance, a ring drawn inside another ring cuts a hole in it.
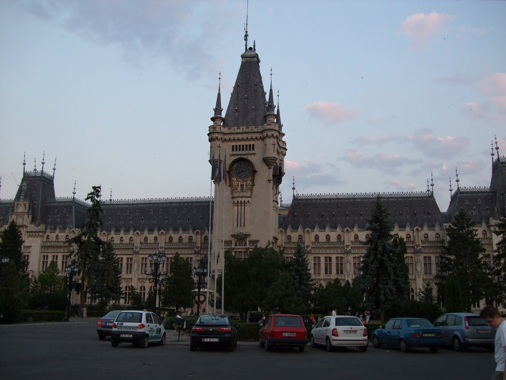
[{"label": "grey-blue station wagon, rightmost of the parked cars", "polygon": [[447,313],[434,321],[434,326],[443,332],[443,345],[455,351],[466,347],[485,347],[494,351],[495,329],[474,313]]}]

